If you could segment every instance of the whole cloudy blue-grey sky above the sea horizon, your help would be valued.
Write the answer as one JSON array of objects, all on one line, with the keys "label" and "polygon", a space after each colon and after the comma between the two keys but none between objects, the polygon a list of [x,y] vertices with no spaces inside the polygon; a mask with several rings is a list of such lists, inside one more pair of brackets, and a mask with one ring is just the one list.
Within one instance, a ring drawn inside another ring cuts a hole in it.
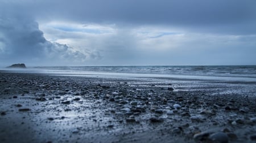
[{"label": "whole cloudy blue-grey sky above the sea horizon", "polygon": [[0,0],[0,66],[256,65],[255,0]]}]

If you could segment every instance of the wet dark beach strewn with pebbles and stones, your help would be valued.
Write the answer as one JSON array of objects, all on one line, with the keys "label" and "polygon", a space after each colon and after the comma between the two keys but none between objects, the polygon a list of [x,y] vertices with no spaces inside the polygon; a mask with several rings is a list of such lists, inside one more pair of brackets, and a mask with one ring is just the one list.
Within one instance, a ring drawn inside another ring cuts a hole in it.
[{"label": "wet dark beach strewn with pebbles and stones", "polygon": [[0,142],[256,142],[240,84],[182,83],[0,71]]}]

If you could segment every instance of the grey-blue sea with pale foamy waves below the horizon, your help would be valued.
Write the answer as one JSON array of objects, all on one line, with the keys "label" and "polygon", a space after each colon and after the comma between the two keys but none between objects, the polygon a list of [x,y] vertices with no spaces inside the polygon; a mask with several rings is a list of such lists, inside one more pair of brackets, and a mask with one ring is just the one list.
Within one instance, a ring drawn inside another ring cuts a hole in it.
[{"label": "grey-blue sea with pale foamy waves below the horizon", "polygon": [[108,78],[166,77],[256,82],[256,66],[56,66],[28,67],[24,70],[12,71]]}]

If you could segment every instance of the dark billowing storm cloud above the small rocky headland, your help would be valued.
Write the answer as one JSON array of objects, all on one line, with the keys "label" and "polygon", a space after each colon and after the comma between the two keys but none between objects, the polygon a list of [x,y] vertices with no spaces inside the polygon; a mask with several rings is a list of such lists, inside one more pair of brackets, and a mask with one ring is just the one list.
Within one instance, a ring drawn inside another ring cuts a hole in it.
[{"label": "dark billowing storm cloud above the small rocky headland", "polygon": [[[1,61],[6,64],[55,63],[64,64],[69,60],[82,62],[86,56],[67,45],[46,40],[38,23],[30,18],[0,18]],[[2,63],[3,64],[3,63]]]}]

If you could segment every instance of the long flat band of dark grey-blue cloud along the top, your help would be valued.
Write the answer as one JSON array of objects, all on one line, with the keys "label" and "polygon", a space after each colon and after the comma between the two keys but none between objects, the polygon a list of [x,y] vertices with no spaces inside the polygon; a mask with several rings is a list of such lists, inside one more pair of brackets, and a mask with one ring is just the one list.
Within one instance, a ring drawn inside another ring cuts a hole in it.
[{"label": "long flat band of dark grey-blue cloud along the top", "polygon": [[[158,24],[189,31],[256,33],[256,1],[6,1],[7,7],[22,10],[38,19],[69,19],[125,26]],[[5,8],[5,7],[3,7]],[[15,10],[14,10],[15,11]],[[8,12],[13,10],[8,9]],[[31,14],[32,13],[32,14]]]}]

